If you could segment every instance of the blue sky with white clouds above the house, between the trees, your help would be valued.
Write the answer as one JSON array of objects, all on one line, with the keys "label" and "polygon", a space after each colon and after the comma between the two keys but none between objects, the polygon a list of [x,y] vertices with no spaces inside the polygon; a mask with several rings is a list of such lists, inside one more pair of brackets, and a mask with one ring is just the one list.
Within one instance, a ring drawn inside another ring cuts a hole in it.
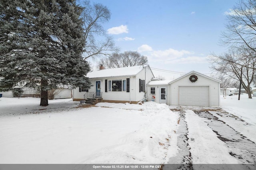
[{"label": "blue sky with white clouds above the house, between the trees", "polygon": [[[219,39],[227,23],[225,12],[238,0],[91,0],[108,7],[111,19],[103,27],[123,51],[138,51],[152,68],[209,74],[206,57],[226,51]],[[180,74],[153,70],[172,79]]]}]

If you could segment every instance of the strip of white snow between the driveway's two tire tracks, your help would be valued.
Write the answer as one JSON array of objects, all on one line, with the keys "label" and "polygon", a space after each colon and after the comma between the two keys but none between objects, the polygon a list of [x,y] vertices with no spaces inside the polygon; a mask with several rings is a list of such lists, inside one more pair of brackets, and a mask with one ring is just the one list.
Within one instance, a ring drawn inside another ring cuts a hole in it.
[{"label": "strip of white snow between the driveway's two tire tracks", "polygon": [[198,117],[192,110],[186,111],[188,138],[193,164],[238,164],[225,143],[207,126],[208,120]]}]

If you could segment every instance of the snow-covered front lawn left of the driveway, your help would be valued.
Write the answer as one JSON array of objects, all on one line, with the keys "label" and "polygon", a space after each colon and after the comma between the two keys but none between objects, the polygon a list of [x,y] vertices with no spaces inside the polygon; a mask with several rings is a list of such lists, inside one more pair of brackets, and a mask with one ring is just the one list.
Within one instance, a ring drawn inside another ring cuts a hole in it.
[{"label": "snow-covered front lawn left of the driveway", "polygon": [[178,115],[165,104],[0,98],[0,164],[167,163]]}]

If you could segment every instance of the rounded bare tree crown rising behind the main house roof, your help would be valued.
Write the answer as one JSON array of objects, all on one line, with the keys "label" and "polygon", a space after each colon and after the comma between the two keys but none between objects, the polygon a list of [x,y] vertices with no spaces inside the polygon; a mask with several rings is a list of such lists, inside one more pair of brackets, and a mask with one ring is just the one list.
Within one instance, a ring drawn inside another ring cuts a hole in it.
[{"label": "rounded bare tree crown rising behind the main house roof", "polygon": [[137,51],[125,51],[113,53],[110,57],[101,59],[98,64],[103,64],[105,68],[121,68],[146,64],[144,62],[147,62],[146,56],[140,55]]}]

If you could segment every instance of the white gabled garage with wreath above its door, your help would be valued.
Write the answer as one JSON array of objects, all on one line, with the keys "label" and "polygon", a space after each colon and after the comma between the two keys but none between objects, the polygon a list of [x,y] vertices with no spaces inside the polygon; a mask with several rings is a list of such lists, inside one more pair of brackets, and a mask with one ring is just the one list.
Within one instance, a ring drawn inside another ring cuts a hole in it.
[{"label": "white gabled garage with wreath above its door", "polygon": [[220,80],[191,71],[170,84],[170,105],[220,106]]}]

